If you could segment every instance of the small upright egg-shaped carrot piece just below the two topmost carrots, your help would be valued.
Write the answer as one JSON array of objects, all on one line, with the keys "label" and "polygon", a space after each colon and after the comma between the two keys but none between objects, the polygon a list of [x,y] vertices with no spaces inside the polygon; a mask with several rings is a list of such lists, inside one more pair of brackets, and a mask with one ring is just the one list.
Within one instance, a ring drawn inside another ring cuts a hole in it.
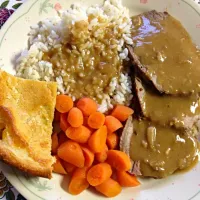
[{"label": "small upright egg-shaped carrot piece just below the two topmost carrots", "polygon": [[72,127],[79,127],[83,125],[83,113],[74,107],[69,111],[67,121]]}]

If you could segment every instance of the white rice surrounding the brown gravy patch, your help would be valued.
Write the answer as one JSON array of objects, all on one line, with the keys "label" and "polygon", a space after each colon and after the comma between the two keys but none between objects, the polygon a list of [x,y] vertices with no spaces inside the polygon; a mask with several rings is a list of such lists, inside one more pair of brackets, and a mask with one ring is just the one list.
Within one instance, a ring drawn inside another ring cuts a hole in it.
[{"label": "white rice surrounding the brown gravy patch", "polygon": [[[90,20],[91,16],[92,20]],[[83,20],[89,24],[88,31],[93,33],[95,41],[102,40],[102,31],[105,30],[105,27],[112,27],[115,40],[110,45],[110,49],[117,48],[119,59],[122,62],[128,60],[128,49],[125,45],[132,44],[132,22],[128,9],[122,6],[121,1],[106,0],[103,5],[90,7],[75,4],[69,10],[59,11],[58,16],[45,19],[31,27],[29,46],[17,60],[17,76],[27,79],[56,81],[58,83],[58,94],[68,94],[75,100],[67,82],[63,79],[66,71],[55,69],[51,62],[42,60],[42,58],[44,53],[52,49],[59,49],[62,45],[67,44],[73,25]],[[88,38],[89,40],[90,38]],[[76,49],[76,46],[73,48]],[[86,42],[86,45],[82,45],[81,50],[87,52],[87,48]],[[103,48],[104,45],[102,44],[102,51]],[[128,70],[124,69],[119,77],[113,77],[108,87],[109,90],[103,96],[101,95],[99,111],[106,112],[112,109],[115,104],[130,105],[132,84]]]}]

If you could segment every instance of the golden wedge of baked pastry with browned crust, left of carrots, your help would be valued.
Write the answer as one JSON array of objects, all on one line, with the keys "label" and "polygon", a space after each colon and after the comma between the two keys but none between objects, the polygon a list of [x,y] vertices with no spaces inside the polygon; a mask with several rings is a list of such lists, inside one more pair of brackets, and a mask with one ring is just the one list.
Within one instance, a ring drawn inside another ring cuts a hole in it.
[{"label": "golden wedge of baked pastry with browned crust, left of carrots", "polygon": [[0,159],[50,179],[55,161],[51,133],[56,83],[25,80],[2,71],[0,83]]}]

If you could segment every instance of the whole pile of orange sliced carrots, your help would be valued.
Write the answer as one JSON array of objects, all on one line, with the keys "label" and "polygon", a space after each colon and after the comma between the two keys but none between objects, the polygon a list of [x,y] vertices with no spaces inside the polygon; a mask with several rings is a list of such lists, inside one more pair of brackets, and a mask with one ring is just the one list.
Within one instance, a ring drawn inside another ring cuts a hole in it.
[{"label": "whole pile of orange sliced carrots", "polygon": [[[122,187],[140,184],[127,172],[131,168],[129,157],[117,150],[117,131],[132,114],[131,108],[117,105],[105,116],[90,98],[74,104],[69,96],[57,96],[55,121],[60,123],[61,132],[52,135],[52,154],[56,159],[53,171],[71,175],[70,194],[80,194],[93,186],[106,197],[114,197]],[[113,174],[115,179],[111,178]]]}]

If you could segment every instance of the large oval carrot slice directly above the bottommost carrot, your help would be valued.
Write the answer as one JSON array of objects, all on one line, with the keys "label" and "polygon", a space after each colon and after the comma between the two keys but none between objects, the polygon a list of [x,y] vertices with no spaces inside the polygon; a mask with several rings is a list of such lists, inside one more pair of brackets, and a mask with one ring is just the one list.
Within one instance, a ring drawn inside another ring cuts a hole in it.
[{"label": "large oval carrot slice directly above the bottommost carrot", "polygon": [[99,163],[88,170],[87,181],[92,186],[102,184],[112,175],[111,166],[108,163]]}]

